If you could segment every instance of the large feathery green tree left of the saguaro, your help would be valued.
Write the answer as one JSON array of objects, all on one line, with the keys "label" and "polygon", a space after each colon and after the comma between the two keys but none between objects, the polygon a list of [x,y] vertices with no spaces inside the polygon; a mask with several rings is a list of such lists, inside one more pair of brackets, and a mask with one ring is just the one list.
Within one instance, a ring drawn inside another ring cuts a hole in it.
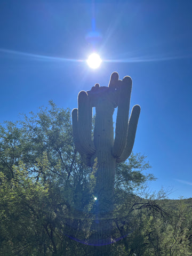
[{"label": "large feathery green tree left of the saguaro", "polygon": [[93,201],[91,171],[73,145],[70,111],[50,102],[0,131],[0,252],[62,255],[73,244],[68,236],[84,228],[79,220],[90,219],[84,213]]}]

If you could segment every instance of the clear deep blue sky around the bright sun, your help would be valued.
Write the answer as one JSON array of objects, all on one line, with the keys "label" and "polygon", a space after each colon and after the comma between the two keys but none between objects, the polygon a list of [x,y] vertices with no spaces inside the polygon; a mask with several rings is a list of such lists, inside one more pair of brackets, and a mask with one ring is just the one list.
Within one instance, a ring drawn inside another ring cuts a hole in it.
[{"label": "clear deep blue sky around the bright sun", "polygon": [[[77,94],[110,74],[133,80],[141,106],[133,151],[147,155],[151,191],[192,197],[192,2],[1,1],[0,122],[53,100],[77,107]],[[96,51],[103,62],[90,69]]]}]

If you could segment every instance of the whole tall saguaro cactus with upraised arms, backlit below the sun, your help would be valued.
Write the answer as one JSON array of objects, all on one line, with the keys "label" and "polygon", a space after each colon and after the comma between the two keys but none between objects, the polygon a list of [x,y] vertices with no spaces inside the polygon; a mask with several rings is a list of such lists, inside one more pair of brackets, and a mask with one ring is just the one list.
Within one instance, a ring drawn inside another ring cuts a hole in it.
[{"label": "whole tall saguaro cactus with upraised arms, backlit below the sun", "polygon": [[[105,238],[109,235],[110,226],[105,220],[113,210],[115,165],[124,162],[131,154],[140,114],[140,106],[135,105],[129,119],[131,90],[131,77],[126,76],[121,81],[114,72],[108,87],[95,84],[90,91],[79,92],[78,109],[72,111],[76,149],[87,166],[93,166],[95,159],[98,163],[95,196],[98,198],[100,223],[97,230],[100,233],[99,239],[105,244],[110,243],[110,237]],[[92,140],[93,107],[96,116]],[[113,113],[116,107],[114,139]]]}]

